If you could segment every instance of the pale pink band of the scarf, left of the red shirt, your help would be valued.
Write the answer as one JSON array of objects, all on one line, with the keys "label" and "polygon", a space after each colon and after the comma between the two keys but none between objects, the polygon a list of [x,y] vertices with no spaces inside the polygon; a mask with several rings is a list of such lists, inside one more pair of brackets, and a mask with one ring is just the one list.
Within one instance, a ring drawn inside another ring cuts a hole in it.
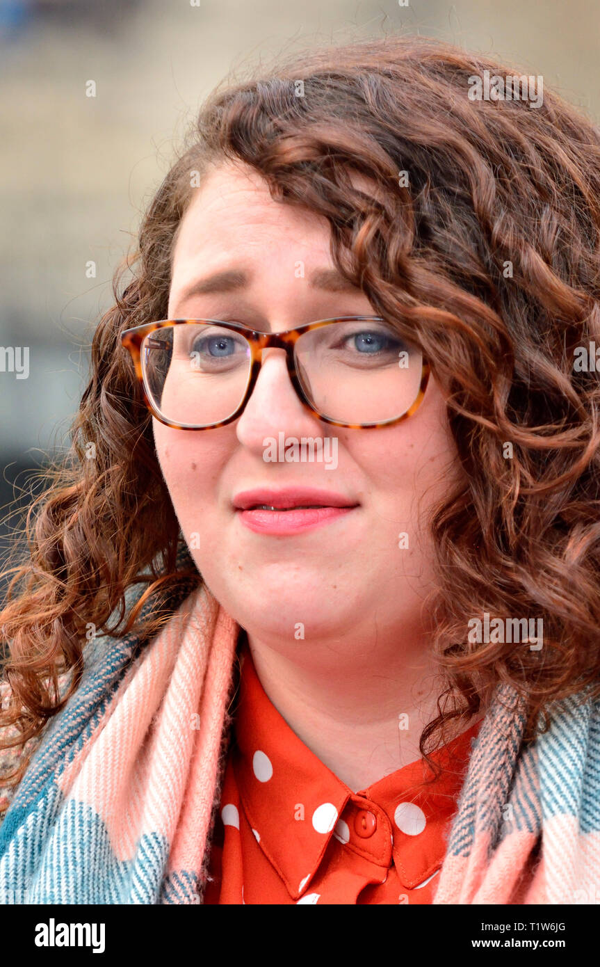
[{"label": "pale pink band of the scarf, left of the red shirt", "polygon": [[60,777],[71,800],[100,815],[118,860],[131,859],[140,837],[153,833],[176,841],[172,868],[203,852],[237,628],[206,587],[186,598]]}]

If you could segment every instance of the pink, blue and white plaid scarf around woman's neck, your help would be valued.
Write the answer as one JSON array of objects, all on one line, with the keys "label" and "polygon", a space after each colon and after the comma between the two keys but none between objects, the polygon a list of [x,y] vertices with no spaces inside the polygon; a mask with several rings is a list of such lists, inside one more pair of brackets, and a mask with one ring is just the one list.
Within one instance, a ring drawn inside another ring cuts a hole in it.
[{"label": "pink, blue and white plaid scarf around woman's neck", "polygon": [[[0,903],[203,902],[240,629],[206,586],[191,587],[172,593],[150,640],[86,646],[79,687],[0,825]],[[499,687],[434,903],[516,902],[536,850],[519,902],[600,901],[600,701],[557,703],[527,745],[524,726],[522,701]]]}]

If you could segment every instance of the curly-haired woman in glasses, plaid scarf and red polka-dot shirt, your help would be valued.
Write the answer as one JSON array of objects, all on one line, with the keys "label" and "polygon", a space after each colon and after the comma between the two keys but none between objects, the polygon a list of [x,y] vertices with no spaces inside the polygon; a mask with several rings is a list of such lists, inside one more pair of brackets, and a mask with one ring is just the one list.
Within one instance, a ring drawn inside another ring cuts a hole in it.
[{"label": "curly-haired woman in glasses, plaid scarf and red polka-dot shirt", "polygon": [[203,107],[2,613],[5,902],[594,902],[600,133],[509,75]]}]

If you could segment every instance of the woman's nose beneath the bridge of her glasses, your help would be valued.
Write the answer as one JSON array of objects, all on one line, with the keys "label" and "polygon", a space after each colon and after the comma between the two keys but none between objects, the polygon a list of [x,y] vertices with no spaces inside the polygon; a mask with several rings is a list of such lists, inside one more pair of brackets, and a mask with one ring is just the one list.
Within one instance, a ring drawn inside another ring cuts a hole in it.
[{"label": "woman's nose beneath the bridge of her glasses", "polygon": [[281,431],[299,439],[320,437],[325,426],[300,402],[290,379],[285,351],[264,349],[256,386],[237,422],[240,443],[263,454],[265,437],[277,439]]}]

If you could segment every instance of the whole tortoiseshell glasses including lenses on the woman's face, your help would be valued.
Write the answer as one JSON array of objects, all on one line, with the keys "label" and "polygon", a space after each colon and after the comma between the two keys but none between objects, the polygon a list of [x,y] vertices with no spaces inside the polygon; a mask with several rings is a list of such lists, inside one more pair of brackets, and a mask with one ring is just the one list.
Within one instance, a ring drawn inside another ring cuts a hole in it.
[{"label": "whole tortoiseshell glasses including lenses on the woman's face", "polygon": [[379,315],[307,322],[258,333],[219,319],[162,319],[126,329],[150,412],[167,426],[232,423],[256,385],[264,349],[283,349],[300,402],[334,426],[389,426],[419,406],[430,366]]}]

